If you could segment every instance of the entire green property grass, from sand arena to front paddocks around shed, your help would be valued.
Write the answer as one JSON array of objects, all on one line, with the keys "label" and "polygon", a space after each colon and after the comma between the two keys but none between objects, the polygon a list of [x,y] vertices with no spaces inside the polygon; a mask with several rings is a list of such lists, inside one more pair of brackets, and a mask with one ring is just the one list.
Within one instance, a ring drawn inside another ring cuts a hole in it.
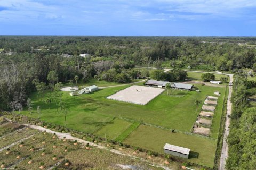
[{"label": "entire green property grass, from sand arena to front paddocks around shed", "polygon": [[[193,77],[194,80],[198,80],[201,78],[201,73],[193,73],[189,74],[189,76]],[[222,75],[218,76],[222,77]],[[90,82],[89,84],[91,83],[97,84],[97,82]],[[139,84],[142,85],[142,83]],[[111,86],[110,84],[108,85]],[[80,86],[87,85],[80,84]],[[106,86],[106,82],[101,82],[101,86]],[[66,103],[66,107],[68,108],[68,128],[93,133],[101,137],[105,137],[106,135],[106,138],[108,139],[116,139],[130,145],[157,152],[162,152],[164,142],[179,145],[178,139],[180,139],[182,141],[180,143],[181,146],[191,148],[192,151],[199,153],[199,158],[191,159],[193,162],[212,167],[214,163],[216,141],[204,137],[191,136],[185,133],[191,132],[191,128],[200,112],[205,97],[207,95],[213,96],[214,91],[219,91],[221,96],[218,99],[218,106],[213,117],[210,133],[210,137],[217,140],[226,86],[212,87],[201,86],[199,84],[194,84],[194,86],[198,88],[200,92],[169,90],[170,95],[167,95],[167,91],[165,90],[145,106],[106,99],[107,96],[114,94],[118,90],[129,87],[129,85],[109,87],[100,89],[92,94],[78,96],[69,96],[69,92],[61,92],[61,99]],[[41,120],[65,126],[65,117],[63,114],[57,113],[55,106],[56,98],[52,96],[52,94],[51,91],[47,91],[45,94],[45,98],[52,99],[50,109],[48,109],[48,105],[41,101],[40,98],[37,98],[37,93],[35,92],[30,96],[34,103],[33,114],[30,115],[26,109],[21,113],[38,118],[36,107],[40,105],[42,107],[42,115],[40,115]],[[202,103],[198,106],[197,112],[196,105],[194,104],[195,100],[201,100]],[[57,104],[58,103],[59,98],[57,98]],[[131,121],[126,121],[125,119]],[[152,129],[150,126],[139,126],[140,123],[162,126],[168,129],[176,129],[180,132],[175,133],[177,139],[169,139],[168,137],[170,134],[167,135],[169,131],[159,128]],[[137,128],[138,126],[139,128]],[[159,138],[157,137],[158,135],[165,133],[166,135],[159,136]],[[137,137],[140,137],[140,140],[137,140]],[[154,140],[159,140],[150,142],[153,137],[155,137]],[[204,145],[205,150],[198,149],[198,147],[202,147],[200,143]],[[209,147],[212,150],[209,150]],[[207,156],[206,152],[211,152],[211,154]]]}]

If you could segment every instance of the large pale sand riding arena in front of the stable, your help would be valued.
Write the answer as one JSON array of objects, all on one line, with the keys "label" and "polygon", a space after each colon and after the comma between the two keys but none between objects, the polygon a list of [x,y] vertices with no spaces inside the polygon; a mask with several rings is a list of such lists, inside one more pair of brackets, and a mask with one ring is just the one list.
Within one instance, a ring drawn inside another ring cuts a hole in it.
[{"label": "large pale sand riding arena in front of the stable", "polygon": [[114,95],[108,96],[107,99],[146,105],[163,91],[164,89],[161,88],[133,85]]}]

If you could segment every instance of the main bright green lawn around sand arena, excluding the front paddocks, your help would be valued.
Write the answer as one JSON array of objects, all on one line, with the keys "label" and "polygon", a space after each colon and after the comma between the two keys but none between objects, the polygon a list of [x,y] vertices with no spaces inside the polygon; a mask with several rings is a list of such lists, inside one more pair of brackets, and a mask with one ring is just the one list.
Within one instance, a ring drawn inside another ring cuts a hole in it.
[{"label": "main bright green lawn around sand arena, excluding the front paddocks", "polygon": [[[173,92],[173,94],[182,93],[183,97],[177,97],[175,95],[167,96],[167,91],[165,91],[146,106],[106,99],[107,96],[127,86],[101,89],[92,94],[73,97],[69,96],[69,92],[62,92],[62,101],[65,101],[68,108],[67,126],[93,133],[113,120],[114,117],[124,117],[189,132],[199,113],[199,111],[196,112],[194,101],[201,100],[203,102],[203,99],[207,95],[213,95],[214,91],[220,91],[221,94],[224,94],[225,91],[225,88],[221,87],[195,86],[201,92],[190,91],[186,92],[186,95],[183,95],[185,91]],[[52,98],[51,92],[48,92],[45,96]],[[23,114],[37,118],[38,114],[35,108],[40,105],[42,107],[42,120],[65,125],[63,114],[57,113],[54,99],[52,99],[53,102],[50,105],[50,109],[48,109],[47,104],[37,99],[36,93],[31,95],[30,98],[34,101],[34,113],[30,115],[25,110],[22,112]]]}]

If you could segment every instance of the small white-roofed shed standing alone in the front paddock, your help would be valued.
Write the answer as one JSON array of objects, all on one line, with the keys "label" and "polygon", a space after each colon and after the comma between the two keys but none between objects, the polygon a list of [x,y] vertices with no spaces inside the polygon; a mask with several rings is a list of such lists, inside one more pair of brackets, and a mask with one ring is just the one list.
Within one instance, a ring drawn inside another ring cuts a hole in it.
[{"label": "small white-roofed shed standing alone in the front paddock", "polygon": [[178,156],[181,158],[188,159],[190,149],[165,143],[164,152],[166,154],[171,154],[173,156]]}]

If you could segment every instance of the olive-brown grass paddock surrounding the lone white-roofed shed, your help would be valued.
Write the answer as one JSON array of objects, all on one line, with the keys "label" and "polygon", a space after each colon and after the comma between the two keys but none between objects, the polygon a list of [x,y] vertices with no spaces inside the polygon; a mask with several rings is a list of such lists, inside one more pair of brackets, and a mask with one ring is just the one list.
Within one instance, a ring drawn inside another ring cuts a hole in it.
[{"label": "olive-brown grass paddock surrounding the lone white-roofed shed", "polygon": [[159,153],[164,153],[163,147],[165,143],[189,148],[191,149],[190,153],[198,155],[198,158],[190,156],[188,161],[210,168],[213,168],[217,147],[217,141],[215,140],[179,132],[171,133],[171,131],[147,125],[140,125],[123,142]]}]

